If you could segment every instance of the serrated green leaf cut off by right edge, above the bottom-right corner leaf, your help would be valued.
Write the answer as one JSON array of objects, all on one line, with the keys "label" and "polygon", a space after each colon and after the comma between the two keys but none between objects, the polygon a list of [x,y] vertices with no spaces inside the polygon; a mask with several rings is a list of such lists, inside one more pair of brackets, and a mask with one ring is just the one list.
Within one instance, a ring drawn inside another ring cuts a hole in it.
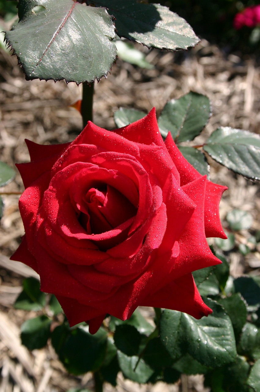
[{"label": "serrated green leaf cut off by right edge, above the bottom-right corner leaf", "polygon": [[260,359],[260,330],[255,324],[245,324],[237,350],[251,360]]}]

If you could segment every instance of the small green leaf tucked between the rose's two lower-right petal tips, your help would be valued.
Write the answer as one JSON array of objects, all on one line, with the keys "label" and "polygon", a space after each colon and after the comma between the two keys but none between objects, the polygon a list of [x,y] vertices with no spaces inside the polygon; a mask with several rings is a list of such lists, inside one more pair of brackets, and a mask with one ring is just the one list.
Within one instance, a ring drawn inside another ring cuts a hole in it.
[{"label": "small green leaf tucked between the rose's two lower-right petal tips", "polygon": [[206,267],[192,272],[201,296],[217,295],[219,293],[218,280],[214,270],[214,267]]}]

